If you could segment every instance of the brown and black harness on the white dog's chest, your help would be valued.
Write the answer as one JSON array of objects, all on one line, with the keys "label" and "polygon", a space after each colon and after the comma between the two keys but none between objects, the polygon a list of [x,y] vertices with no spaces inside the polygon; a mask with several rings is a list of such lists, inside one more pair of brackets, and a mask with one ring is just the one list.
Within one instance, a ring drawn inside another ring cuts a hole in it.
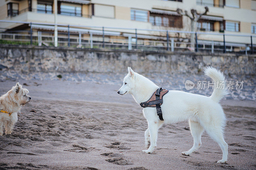
[{"label": "brown and black harness on the white dog's chest", "polygon": [[160,87],[152,94],[152,96],[148,99],[148,101],[145,101],[143,103],[140,103],[140,106],[145,107],[156,107],[156,114],[158,115],[159,119],[163,121],[163,114],[161,110],[161,105],[163,104],[163,96],[168,93],[169,90],[162,89]]}]

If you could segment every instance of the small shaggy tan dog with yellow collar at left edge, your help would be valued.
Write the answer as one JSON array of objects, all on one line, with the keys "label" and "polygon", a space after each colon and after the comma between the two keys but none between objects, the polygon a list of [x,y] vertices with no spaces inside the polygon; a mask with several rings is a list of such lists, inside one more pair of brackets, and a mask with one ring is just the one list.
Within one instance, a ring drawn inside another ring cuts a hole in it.
[{"label": "small shaggy tan dog with yellow collar at left edge", "polygon": [[0,136],[3,135],[3,126],[5,126],[5,134],[12,134],[21,106],[28,103],[30,99],[28,89],[22,88],[20,83],[0,97]]}]

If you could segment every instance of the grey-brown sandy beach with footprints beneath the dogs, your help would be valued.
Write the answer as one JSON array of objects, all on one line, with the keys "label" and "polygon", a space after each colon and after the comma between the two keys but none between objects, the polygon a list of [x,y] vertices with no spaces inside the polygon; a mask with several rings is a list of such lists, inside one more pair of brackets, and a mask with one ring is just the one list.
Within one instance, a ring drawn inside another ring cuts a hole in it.
[{"label": "grey-brown sandy beach with footprints beneath the dogs", "polygon": [[[228,161],[205,132],[193,145],[188,122],[164,124],[152,154],[144,149],[147,121],[119,85],[25,81],[32,100],[21,109],[13,133],[0,136],[0,169],[255,169],[256,102],[223,100]],[[0,82],[1,95],[15,85]]]}]

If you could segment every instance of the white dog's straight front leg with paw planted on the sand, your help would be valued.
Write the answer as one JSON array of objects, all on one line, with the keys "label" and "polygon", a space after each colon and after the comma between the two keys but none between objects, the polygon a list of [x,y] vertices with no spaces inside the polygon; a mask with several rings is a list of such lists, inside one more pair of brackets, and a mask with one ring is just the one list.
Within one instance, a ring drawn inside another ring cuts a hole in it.
[{"label": "white dog's straight front leg with paw planted on the sand", "polygon": [[148,150],[143,150],[142,152],[151,153],[156,147],[158,124],[157,122],[148,122],[148,129],[150,134],[150,146]]}]

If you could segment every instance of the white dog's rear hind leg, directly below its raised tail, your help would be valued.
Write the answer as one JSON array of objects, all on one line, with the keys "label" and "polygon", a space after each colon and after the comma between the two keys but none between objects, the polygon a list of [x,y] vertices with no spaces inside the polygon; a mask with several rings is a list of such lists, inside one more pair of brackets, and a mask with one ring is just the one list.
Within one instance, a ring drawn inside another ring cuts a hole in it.
[{"label": "white dog's rear hind leg, directly below its raised tail", "polygon": [[228,144],[225,142],[223,138],[222,129],[216,127],[209,127],[209,129],[205,129],[206,132],[209,134],[212,139],[217,142],[222,150],[222,159],[219,160],[217,163],[225,163],[228,159]]}]

